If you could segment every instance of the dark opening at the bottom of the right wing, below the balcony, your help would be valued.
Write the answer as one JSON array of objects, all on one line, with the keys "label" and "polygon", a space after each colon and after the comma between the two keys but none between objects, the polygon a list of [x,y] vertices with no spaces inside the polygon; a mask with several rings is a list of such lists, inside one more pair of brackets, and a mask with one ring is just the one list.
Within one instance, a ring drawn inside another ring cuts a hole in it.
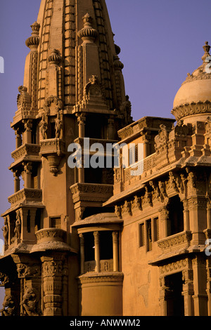
[{"label": "dark opening at the bottom of the right wing, below the balcony", "polygon": [[167,286],[167,316],[184,316],[183,280],[181,272],[165,277]]}]

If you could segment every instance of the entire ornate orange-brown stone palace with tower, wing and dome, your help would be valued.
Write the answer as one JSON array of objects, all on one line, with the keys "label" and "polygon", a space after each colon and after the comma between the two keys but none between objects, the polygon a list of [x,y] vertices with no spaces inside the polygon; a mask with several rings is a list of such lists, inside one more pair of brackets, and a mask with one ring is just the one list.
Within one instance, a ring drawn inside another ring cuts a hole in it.
[{"label": "entire ornate orange-brown stone palace with tower, wing and dome", "polygon": [[[31,27],[1,215],[2,316],[210,316],[210,46],[175,120],[133,121],[105,0],[41,0]],[[84,138],[105,157],[124,143],[131,161],[70,168],[68,146],[85,154]]]}]

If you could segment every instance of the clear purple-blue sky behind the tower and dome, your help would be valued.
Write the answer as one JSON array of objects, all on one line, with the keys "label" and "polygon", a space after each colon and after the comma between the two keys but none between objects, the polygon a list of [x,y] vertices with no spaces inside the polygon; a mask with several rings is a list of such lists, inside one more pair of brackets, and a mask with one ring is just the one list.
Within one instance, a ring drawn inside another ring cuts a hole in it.
[{"label": "clear purple-blue sky behind the tower and dome", "polygon": [[[86,1],[86,0],[84,0]],[[211,45],[210,0],[107,0],[115,43],[122,49],[126,93],[134,120],[170,117],[181,83],[202,63],[203,45]],[[13,175],[8,171],[15,134],[10,128],[18,86],[23,84],[30,25],[37,20],[40,0],[0,0],[0,213],[8,209]],[[2,238],[0,222],[0,238]],[[1,296],[1,291],[0,291]],[[0,298],[1,302],[1,298]]]}]

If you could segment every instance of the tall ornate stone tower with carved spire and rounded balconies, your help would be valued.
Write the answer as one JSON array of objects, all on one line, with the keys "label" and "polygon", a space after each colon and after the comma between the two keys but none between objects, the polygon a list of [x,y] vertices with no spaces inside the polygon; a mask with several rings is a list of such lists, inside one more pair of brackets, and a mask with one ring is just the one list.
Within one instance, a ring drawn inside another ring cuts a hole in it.
[{"label": "tall ornate stone tower with carved spire and rounded balconies", "polygon": [[132,123],[106,2],[41,0],[31,27],[11,124],[15,187],[2,215],[1,312],[121,315],[122,220],[113,207],[101,213],[113,170],[68,166],[71,143],[115,143]]}]

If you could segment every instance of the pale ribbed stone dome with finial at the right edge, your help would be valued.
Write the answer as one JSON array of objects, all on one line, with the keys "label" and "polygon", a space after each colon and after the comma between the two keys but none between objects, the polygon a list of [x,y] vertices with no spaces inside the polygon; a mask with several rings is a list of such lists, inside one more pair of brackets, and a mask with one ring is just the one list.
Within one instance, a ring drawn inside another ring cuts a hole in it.
[{"label": "pale ribbed stone dome with finial at the right edge", "polygon": [[172,114],[177,120],[203,120],[211,113],[210,46],[206,42],[203,48],[203,65],[188,74],[174,98]]}]

